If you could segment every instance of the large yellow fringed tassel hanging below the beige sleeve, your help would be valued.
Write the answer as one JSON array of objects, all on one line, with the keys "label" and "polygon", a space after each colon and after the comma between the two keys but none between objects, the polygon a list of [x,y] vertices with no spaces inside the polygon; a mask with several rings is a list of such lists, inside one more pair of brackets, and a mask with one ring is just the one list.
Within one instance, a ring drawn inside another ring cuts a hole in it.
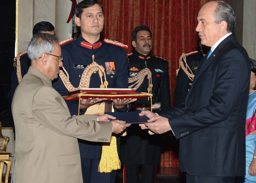
[{"label": "large yellow fringed tassel hanging below the beige sleeve", "polygon": [[118,157],[117,147],[116,147],[116,137],[111,137],[110,144],[104,142],[102,145],[102,157],[99,162],[99,172],[109,173],[112,170],[117,170],[121,168],[121,162]]}]

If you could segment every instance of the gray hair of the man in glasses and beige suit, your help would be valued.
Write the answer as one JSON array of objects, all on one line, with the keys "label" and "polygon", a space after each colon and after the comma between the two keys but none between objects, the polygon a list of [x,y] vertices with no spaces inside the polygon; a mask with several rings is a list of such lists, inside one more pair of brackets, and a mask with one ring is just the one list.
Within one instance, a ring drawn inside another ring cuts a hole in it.
[{"label": "gray hair of the man in glasses and beige suit", "polygon": [[29,59],[35,60],[41,58],[43,53],[51,53],[58,44],[58,37],[51,34],[38,34],[35,35],[28,46],[28,57]]}]

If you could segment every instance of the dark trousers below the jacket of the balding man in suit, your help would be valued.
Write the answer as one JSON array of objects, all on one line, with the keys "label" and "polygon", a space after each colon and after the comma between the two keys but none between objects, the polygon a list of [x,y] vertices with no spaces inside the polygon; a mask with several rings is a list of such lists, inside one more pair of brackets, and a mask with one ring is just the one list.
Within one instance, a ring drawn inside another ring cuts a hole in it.
[{"label": "dark trousers below the jacket of the balding man in suit", "polygon": [[206,177],[186,174],[186,183],[235,183],[235,177]]}]

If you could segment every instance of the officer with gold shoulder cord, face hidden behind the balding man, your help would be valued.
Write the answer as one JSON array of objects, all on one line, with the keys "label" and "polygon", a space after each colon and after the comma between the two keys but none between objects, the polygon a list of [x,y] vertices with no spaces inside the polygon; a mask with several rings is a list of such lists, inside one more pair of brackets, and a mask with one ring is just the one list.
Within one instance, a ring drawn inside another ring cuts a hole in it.
[{"label": "officer with gold shoulder cord, face hidden behind the balding man", "polygon": [[194,51],[186,54],[183,53],[180,56],[180,68],[177,73],[174,91],[174,107],[184,102],[202,58],[209,52],[210,48],[201,45],[201,40],[199,41],[199,46],[201,48],[200,52]]}]

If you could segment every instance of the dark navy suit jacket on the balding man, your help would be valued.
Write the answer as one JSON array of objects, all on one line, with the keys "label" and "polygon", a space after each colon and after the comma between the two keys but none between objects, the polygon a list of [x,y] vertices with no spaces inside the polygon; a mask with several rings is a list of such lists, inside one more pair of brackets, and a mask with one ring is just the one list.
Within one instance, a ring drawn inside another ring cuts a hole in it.
[{"label": "dark navy suit jacket on the balding man", "polygon": [[[233,35],[203,58],[185,102],[161,116],[180,139],[180,170],[194,176],[245,174],[250,61]],[[173,116],[173,117],[172,117]]]}]

